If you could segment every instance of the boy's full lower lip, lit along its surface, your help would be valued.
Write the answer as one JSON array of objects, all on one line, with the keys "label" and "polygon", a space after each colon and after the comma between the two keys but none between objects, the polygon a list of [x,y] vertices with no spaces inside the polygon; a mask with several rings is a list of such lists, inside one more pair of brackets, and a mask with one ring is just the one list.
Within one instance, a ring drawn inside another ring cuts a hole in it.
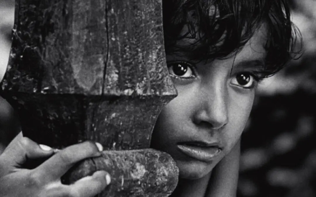
[{"label": "boy's full lower lip, lit along its surface", "polygon": [[221,153],[216,147],[199,147],[189,145],[177,145],[179,150],[193,159],[210,162]]}]

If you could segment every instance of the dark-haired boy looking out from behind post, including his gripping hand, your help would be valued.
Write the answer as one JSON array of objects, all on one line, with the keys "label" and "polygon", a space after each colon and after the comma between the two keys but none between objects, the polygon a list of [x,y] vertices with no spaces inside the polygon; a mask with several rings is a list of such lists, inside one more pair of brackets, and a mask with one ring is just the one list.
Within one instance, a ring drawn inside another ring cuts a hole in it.
[{"label": "dark-haired boy looking out from behind post, including his gripping hand", "polygon": [[[159,115],[152,148],[177,162],[180,179],[172,196],[234,196],[238,143],[257,84],[293,55],[297,31],[287,2],[165,0],[163,17],[167,66],[178,96]],[[17,136],[0,156],[0,190],[4,196],[94,196],[109,184],[106,172],[70,186],[60,177],[101,149],[84,142],[54,154]],[[45,157],[37,168],[23,169],[27,159]]]}]

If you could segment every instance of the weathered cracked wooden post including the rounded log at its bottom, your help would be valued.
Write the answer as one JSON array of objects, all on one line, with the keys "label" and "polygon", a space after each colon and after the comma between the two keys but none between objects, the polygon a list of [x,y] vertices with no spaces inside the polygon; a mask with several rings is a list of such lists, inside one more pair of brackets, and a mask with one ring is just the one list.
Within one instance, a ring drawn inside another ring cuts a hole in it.
[{"label": "weathered cracked wooden post including the rounded log at its bottom", "polygon": [[[64,183],[105,169],[100,196],[168,196],[178,168],[149,149],[162,107],[176,96],[168,77],[161,0],[16,0],[2,96],[23,135],[54,148],[100,142]],[[137,149],[137,150],[136,150]]]}]

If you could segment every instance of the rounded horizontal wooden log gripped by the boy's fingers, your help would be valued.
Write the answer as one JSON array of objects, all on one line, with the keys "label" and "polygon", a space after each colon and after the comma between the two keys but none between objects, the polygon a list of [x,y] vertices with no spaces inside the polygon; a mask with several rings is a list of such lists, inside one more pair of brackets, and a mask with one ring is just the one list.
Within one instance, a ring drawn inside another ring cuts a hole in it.
[{"label": "rounded horizontal wooden log gripped by the boy's fingers", "polygon": [[103,151],[102,157],[84,160],[63,177],[71,184],[95,171],[105,170],[111,184],[99,197],[162,197],[172,193],[179,169],[167,153],[154,149]]}]

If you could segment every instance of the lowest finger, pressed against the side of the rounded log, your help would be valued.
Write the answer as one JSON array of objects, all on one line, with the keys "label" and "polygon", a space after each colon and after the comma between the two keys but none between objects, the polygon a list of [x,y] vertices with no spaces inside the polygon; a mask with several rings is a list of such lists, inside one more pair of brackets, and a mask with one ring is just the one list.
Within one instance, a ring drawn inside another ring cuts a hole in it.
[{"label": "lowest finger, pressed against the side of the rounded log", "polygon": [[106,171],[96,171],[92,176],[83,177],[69,185],[71,196],[95,196],[111,183],[110,175]]}]

